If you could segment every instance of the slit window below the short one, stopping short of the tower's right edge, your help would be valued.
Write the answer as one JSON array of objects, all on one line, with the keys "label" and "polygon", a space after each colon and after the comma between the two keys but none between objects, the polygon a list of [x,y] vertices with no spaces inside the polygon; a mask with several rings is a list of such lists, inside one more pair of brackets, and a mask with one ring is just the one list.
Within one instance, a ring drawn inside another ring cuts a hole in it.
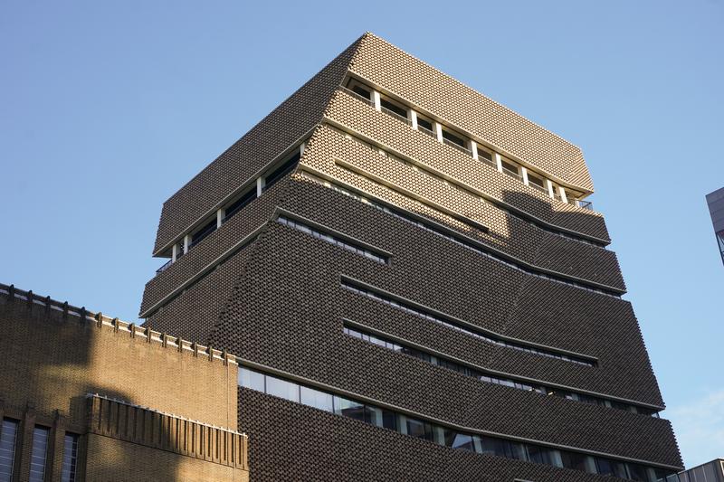
[{"label": "slit window below the short one, stopping short of the tower's right edge", "polygon": [[445,318],[441,317],[440,315],[433,314],[432,311],[424,310],[423,308],[419,308],[419,307],[413,307],[411,304],[405,303],[403,301],[398,301],[398,300],[391,298],[379,291],[373,291],[370,288],[364,288],[360,285],[353,284],[353,282],[348,279],[342,279],[341,286],[342,286],[342,288],[348,289],[349,291],[356,293],[357,295],[362,295],[366,298],[374,299],[375,301],[384,303],[387,306],[395,307],[397,309],[405,311],[405,313],[409,313],[410,315],[414,315],[415,317],[421,317],[426,320],[433,321],[434,323],[437,323],[437,324],[440,324],[443,326],[447,326],[456,331],[462,332],[465,335],[474,336],[486,343],[504,346],[506,348],[512,348],[514,350],[519,350],[519,351],[527,352],[530,354],[537,354],[539,356],[545,356],[548,358],[555,358],[557,360],[563,360],[564,362],[570,362],[573,364],[595,366],[594,361],[588,360],[586,358],[577,357],[572,354],[562,354],[562,353],[558,353],[558,352],[555,352],[552,350],[547,350],[545,348],[539,348],[538,346],[511,342],[509,340],[505,340],[500,337],[481,333],[481,331],[473,330],[469,327],[461,326],[459,323],[456,323],[452,319],[445,319]]}]

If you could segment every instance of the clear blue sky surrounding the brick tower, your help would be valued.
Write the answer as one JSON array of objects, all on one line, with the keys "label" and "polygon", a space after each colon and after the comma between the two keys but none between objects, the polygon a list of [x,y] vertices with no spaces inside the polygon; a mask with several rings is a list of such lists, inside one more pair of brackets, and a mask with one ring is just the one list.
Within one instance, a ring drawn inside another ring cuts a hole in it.
[{"label": "clear blue sky surrounding the brick tower", "polygon": [[0,281],[135,319],[161,204],[365,31],[583,148],[664,416],[724,457],[719,0],[1,1]]}]

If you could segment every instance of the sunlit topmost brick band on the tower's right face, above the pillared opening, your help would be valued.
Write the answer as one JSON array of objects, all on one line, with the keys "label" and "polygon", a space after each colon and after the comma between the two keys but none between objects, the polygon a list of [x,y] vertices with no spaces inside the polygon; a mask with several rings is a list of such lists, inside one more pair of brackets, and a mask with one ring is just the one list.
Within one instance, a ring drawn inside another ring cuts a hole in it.
[{"label": "sunlit topmost brick band on the tower's right face, above the pillared opening", "polygon": [[360,39],[349,70],[544,172],[593,191],[578,147],[371,33]]}]

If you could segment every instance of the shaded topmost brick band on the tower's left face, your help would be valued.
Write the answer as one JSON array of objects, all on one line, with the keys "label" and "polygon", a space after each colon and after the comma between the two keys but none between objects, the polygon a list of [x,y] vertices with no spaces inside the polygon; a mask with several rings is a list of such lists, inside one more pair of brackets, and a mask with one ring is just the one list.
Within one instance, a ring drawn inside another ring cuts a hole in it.
[{"label": "shaded topmost brick band on the tower's left face", "polygon": [[354,43],[339,54],[164,203],[154,252],[182,235],[191,223],[319,123],[356,47]]}]

